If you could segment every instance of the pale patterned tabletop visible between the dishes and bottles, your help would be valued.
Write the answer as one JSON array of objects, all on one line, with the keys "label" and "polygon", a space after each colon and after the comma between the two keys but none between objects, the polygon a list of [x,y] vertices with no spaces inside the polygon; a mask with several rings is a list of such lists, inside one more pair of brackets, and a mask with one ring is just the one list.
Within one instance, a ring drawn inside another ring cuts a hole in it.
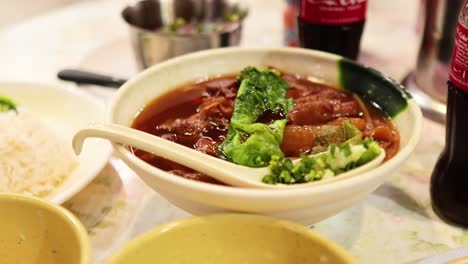
[{"label": "pale patterned tabletop visible between the dishes and bottles", "polygon": [[[247,1],[251,13],[242,46],[282,45],[281,0]],[[420,0],[370,1],[360,60],[402,80],[416,58]],[[120,20],[122,0],[79,3],[0,31],[0,80],[57,83],[65,67],[130,77],[137,72]],[[264,33],[267,32],[267,33]],[[63,85],[70,85],[62,83]],[[79,87],[106,103],[115,91]],[[416,263],[468,246],[468,231],[441,222],[429,198],[431,170],[444,143],[444,127],[424,121],[412,156],[367,198],[313,228],[359,263]],[[65,207],[87,227],[95,263],[155,226],[189,217],[150,190],[113,157],[96,179]]]}]

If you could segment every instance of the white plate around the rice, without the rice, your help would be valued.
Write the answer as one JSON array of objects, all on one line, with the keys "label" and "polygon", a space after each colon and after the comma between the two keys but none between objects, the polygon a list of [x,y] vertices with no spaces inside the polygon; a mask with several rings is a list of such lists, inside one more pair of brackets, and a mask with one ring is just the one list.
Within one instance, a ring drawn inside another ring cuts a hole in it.
[{"label": "white plate around the rice, without the rice", "polygon": [[[22,82],[0,82],[0,94],[24,106],[54,125],[70,141],[74,133],[89,123],[105,119],[105,107],[94,97],[77,89]],[[49,195],[42,197],[62,204],[83,189],[106,165],[112,146],[106,140],[87,139],[79,156],[79,166]]]}]

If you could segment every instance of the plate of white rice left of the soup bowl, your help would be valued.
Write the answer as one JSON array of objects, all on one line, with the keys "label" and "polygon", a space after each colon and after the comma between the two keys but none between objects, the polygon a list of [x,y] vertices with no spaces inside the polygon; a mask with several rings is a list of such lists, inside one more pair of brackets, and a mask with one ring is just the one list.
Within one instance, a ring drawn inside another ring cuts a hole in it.
[{"label": "plate of white rice left of the soup bowl", "polygon": [[17,104],[0,111],[0,192],[20,193],[62,204],[88,185],[106,165],[112,146],[88,139],[76,156],[76,131],[105,119],[103,103],[78,89],[0,82],[0,96]]}]

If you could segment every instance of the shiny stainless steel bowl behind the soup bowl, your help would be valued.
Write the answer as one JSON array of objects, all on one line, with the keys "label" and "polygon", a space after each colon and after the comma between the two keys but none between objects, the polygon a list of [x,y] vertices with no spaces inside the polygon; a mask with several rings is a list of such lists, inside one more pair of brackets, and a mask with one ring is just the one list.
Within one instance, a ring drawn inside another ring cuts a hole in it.
[{"label": "shiny stainless steel bowl behind the soup bowl", "polygon": [[[221,31],[174,33],[163,30],[176,19],[209,23],[220,21],[232,12],[239,12],[239,22]],[[245,8],[223,0],[142,0],[122,11],[122,17],[130,27],[136,59],[142,68],[189,52],[239,45],[245,15]]]}]

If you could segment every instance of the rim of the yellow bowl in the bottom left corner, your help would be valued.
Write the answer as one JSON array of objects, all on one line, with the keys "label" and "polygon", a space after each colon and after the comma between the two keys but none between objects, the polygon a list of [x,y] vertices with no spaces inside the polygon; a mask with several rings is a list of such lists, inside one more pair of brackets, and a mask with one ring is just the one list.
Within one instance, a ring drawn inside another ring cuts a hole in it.
[{"label": "rim of the yellow bowl in the bottom left corner", "polygon": [[0,203],[4,202],[19,202],[22,204],[31,205],[33,207],[43,209],[59,217],[59,219],[67,223],[67,225],[71,228],[72,232],[78,239],[78,244],[81,247],[80,263],[91,263],[91,242],[88,236],[88,231],[86,231],[84,225],[70,211],[68,211],[60,205],[53,204],[44,199],[16,193],[0,193]]}]

